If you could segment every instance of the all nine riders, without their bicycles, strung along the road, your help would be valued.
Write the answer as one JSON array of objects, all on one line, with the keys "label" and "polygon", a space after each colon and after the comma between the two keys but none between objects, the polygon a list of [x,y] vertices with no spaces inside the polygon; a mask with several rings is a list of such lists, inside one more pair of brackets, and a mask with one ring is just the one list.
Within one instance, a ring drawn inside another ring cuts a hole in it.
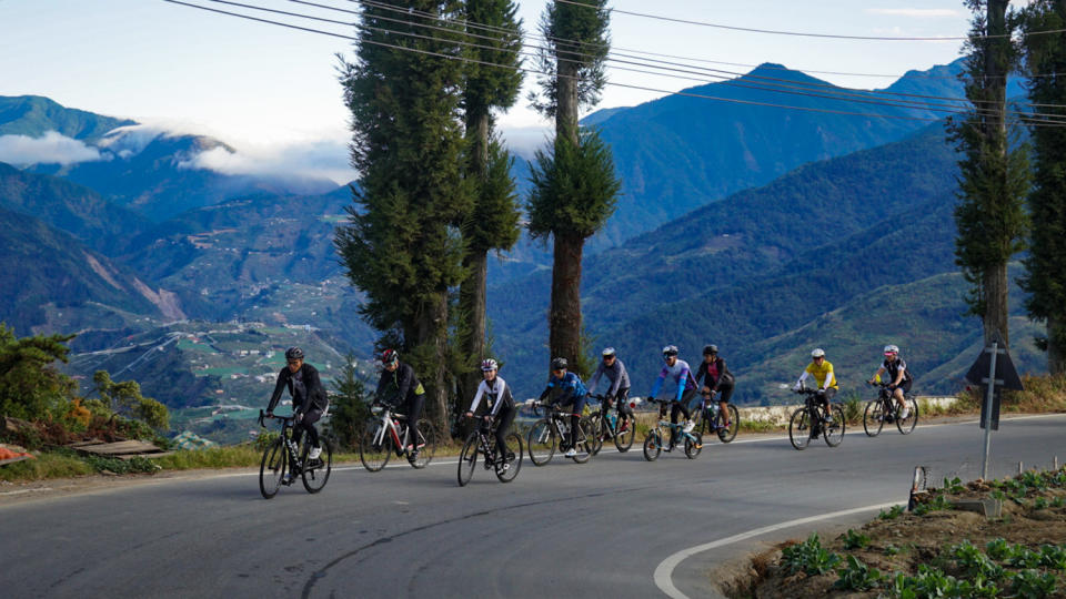
[{"label": "all nine riders, without their bicycles, strung along the road", "polygon": [[[736,379],[725,365],[725,359],[718,355],[717,346],[707,345],[703,348],[703,363],[695,372],[687,362],[678,358],[677,354],[675,345],[663,347],[664,364],[652,385],[650,395],[652,399],[658,396],[663,384],[667,379],[677,387],[671,400],[661,403],[660,417],[665,417],[666,407],[670,406],[671,423],[677,425],[678,416],[684,416],[683,426],[680,428],[685,433],[691,432],[695,426],[691,407],[693,407],[693,400],[698,393],[704,397],[704,402],[717,394],[721,414],[728,418],[730,410],[726,406],[733,396]],[[300,438],[306,433],[312,446],[308,458],[314,460],[321,454],[319,433],[314,423],[328,412],[329,396],[319,378],[318,369],[304,362],[302,349],[290,347],[285,352],[285,367],[278,374],[274,392],[266,407],[266,415],[273,415],[274,407],[276,407],[282,393],[288,388],[292,397],[294,413],[293,440],[299,445]],[[396,403],[395,407],[402,408],[406,414],[411,430],[418,430],[419,419],[425,404],[425,389],[419,382],[414,368],[410,364],[400,362],[400,354],[395,349],[385,349],[381,354],[381,363],[382,372],[375,397],[379,400],[392,397]],[[481,370],[483,380],[479,384],[465,415],[466,417],[474,417],[482,400],[485,400],[487,409],[482,417],[489,424],[495,425],[497,447],[504,447],[504,438],[517,413],[514,396],[511,393],[511,387],[499,375],[500,365],[495,359],[486,358],[482,361]],[[908,409],[904,394],[911,390],[913,376],[906,362],[899,357],[899,348],[895,345],[885,346],[884,361],[871,377],[869,383],[884,380],[883,375],[887,375],[888,389],[901,406],[899,417],[906,418]],[[547,386],[537,400],[543,405],[557,405],[569,409],[570,430],[577,430],[585,403],[594,394],[603,378],[609,383],[607,390],[603,395],[603,402],[607,409],[614,408],[617,410],[616,416],[620,426],[631,426],[633,412],[628,402],[630,375],[613,347],[606,347],[601,353],[600,364],[589,387],[585,387],[576,373],[569,369],[566,358],[553,358]],[[837,393],[838,383],[833,370],[833,364],[826,359],[825,351],[821,347],[811,352],[811,364],[801,373],[794,388],[796,390],[802,389],[808,378],[814,379],[817,398],[826,408],[825,418],[827,422],[832,422],[832,402]],[[731,423],[726,420],[723,425],[728,428]],[[670,451],[676,444],[677,428],[676,426],[671,428],[670,447],[664,448],[665,451]],[[562,439],[560,448],[566,451],[567,457],[576,455],[576,449],[569,438]],[[421,447],[418,441],[413,441],[405,449],[410,456],[416,457]]]}]

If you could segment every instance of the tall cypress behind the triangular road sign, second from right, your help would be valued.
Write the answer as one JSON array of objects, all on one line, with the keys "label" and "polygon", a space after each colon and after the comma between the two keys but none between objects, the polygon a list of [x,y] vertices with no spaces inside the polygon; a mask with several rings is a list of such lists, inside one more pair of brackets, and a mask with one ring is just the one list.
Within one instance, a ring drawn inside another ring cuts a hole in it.
[{"label": "tall cypress behind the triangular road sign, second from right", "polygon": [[971,313],[982,318],[985,343],[998,331],[1009,343],[1007,262],[1024,247],[1028,160],[1007,134],[1007,75],[1018,64],[1010,35],[1017,29],[1008,0],[966,0],[974,12],[962,80],[974,110],[949,128],[963,153],[956,264],[971,284]]}]

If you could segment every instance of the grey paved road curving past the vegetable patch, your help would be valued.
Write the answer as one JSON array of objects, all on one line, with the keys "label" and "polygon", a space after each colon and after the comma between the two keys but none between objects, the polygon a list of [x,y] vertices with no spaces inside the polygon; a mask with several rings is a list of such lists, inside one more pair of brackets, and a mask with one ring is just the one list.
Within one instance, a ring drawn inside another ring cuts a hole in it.
[{"label": "grey paved road curving past the vegetable patch", "polygon": [[[908,437],[848,434],[831,449],[786,438],[708,444],[646,463],[638,447],[586,465],[555,458],[502,485],[477,470],[455,484],[453,459],[416,471],[334,470],[325,490],[259,495],[240,474],[163,480],[4,505],[4,597],[655,597],[672,554],[796,518],[904,502],[915,465],[977,476],[976,424]],[[1005,420],[995,476],[1066,458],[1066,415]],[[938,479],[937,478],[937,479]],[[863,515],[862,519],[866,516]],[[811,525],[814,526],[814,525]],[[806,529],[777,532],[804,535]],[[706,596],[726,546],[668,572]]]}]

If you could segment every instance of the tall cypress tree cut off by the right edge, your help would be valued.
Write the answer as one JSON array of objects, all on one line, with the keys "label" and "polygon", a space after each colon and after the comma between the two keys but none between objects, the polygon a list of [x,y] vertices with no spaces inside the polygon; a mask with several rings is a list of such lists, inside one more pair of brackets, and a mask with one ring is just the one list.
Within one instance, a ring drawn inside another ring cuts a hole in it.
[{"label": "tall cypress tree cut off by the right edge", "polygon": [[[1066,29],[1066,0],[1036,0],[1024,12],[1025,31]],[[1032,77],[1029,101],[1042,113],[1066,118],[1056,108],[1066,99],[1066,34],[1024,38],[1025,62]],[[1055,105],[1053,105],[1055,104]],[[1066,128],[1030,128],[1034,186],[1029,193],[1029,255],[1023,288],[1029,316],[1047,324],[1047,369],[1066,372]],[[1042,341],[1042,339],[1038,339]]]}]

